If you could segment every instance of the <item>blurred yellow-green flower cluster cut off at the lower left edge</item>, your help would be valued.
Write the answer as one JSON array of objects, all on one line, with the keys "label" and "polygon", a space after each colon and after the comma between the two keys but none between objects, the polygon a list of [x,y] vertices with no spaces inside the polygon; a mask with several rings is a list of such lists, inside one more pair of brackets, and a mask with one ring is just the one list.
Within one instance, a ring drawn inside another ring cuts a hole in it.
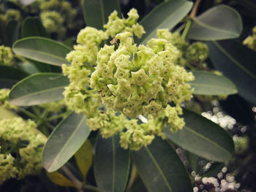
[{"label": "blurred yellow-green flower cluster cut off at the lower left edge", "polygon": [[36,123],[22,118],[0,120],[0,181],[37,174],[47,138]]}]

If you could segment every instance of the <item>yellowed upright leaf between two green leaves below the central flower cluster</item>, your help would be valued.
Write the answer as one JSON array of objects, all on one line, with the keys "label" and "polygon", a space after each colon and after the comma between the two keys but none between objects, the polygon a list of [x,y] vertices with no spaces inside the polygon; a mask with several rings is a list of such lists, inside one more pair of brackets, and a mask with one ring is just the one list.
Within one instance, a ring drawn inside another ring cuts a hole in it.
[{"label": "yellowed upright leaf between two green leaves below the central flower cluster", "polygon": [[84,180],[86,180],[86,175],[91,167],[92,158],[93,153],[91,143],[89,140],[86,140],[86,142],[83,143],[77,153],[75,153],[75,160],[78,164],[80,172],[83,174]]}]

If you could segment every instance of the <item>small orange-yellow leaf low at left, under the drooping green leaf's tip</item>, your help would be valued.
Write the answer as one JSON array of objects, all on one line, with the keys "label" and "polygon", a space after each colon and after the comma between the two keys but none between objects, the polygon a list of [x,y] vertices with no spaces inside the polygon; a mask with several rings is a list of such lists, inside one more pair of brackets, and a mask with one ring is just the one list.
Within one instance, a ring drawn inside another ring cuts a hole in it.
[{"label": "small orange-yellow leaf low at left, under the drooping green leaf's tip", "polygon": [[65,177],[63,174],[60,174],[59,172],[46,172],[46,174],[48,178],[56,185],[73,188],[76,187],[71,180],[69,180],[67,177]]}]

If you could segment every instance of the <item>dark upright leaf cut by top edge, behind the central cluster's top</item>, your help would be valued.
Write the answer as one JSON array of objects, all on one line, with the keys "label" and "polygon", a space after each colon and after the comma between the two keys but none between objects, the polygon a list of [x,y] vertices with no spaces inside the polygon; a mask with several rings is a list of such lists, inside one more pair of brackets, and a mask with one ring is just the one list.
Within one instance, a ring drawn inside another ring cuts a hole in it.
[{"label": "dark upright leaf cut by top edge, behind the central cluster's top", "polygon": [[108,23],[108,16],[113,10],[120,14],[119,0],[83,0],[83,18],[86,26],[102,29],[105,23]]}]

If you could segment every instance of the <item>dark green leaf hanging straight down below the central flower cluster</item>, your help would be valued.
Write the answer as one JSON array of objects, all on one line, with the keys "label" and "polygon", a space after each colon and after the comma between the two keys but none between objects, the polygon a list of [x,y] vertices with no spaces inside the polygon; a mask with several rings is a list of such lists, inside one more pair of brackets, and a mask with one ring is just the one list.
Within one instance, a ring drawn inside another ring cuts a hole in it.
[{"label": "dark green leaf hanging straight down below the central flower cluster", "polygon": [[124,191],[129,174],[129,150],[120,147],[117,135],[103,139],[98,134],[94,174],[99,191]]}]

